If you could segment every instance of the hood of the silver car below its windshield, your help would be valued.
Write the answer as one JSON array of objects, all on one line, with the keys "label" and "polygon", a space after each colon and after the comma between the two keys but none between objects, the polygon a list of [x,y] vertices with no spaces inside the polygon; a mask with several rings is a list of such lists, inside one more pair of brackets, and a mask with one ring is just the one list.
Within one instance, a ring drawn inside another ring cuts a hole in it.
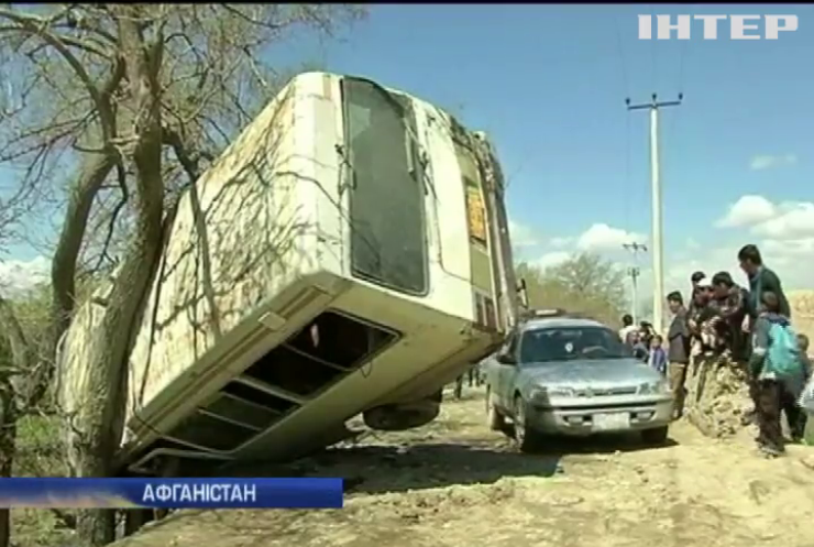
[{"label": "hood of the silver car below its windshield", "polygon": [[590,359],[526,365],[529,381],[544,385],[578,387],[597,384],[658,382],[661,374],[638,359]]}]

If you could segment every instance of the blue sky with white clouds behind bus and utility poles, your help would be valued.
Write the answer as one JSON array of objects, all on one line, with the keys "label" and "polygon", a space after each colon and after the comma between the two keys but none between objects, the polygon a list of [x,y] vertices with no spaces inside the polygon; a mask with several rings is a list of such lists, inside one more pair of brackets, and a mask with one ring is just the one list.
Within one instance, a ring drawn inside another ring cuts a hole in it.
[{"label": "blue sky with white clouds behind bus and utility poles", "polygon": [[[638,40],[638,14],[796,14],[780,40]],[[579,251],[620,265],[623,243],[650,243],[647,102],[660,111],[666,288],[690,273],[738,274],[757,243],[790,288],[814,288],[814,7],[375,6],[340,41],[282,44],[280,63],[317,62],[370,77],[485,130],[508,178],[516,258],[541,266]],[[641,291],[651,287],[639,255]],[[0,276],[28,276],[15,249]],[[22,274],[20,274],[22,272]],[[13,272],[12,272],[13,275]]]}]

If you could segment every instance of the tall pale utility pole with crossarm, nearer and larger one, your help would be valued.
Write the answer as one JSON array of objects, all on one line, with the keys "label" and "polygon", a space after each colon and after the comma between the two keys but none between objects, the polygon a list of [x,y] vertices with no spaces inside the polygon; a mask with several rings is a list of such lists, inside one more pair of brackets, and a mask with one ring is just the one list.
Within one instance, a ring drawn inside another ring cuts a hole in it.
[{"label": "tall pale utility pole with crossarm, nearer and larger one", "polygon": [[650,110],[650,182],[652,193],[652,247],[653,247],[653,329],[658,333],[663,333],[664,311],[662,303],[664,300],[664,249],[662,238],[661,221],[661,173],[659,167],[659,109],[664,107],[678,107],[684,99],[683,94],[679,94],[679,100],[662,101],[657,100],[656,94],[652,94],[650,102],[641,105],[630,105],[630,99],[625,99],[628,110]]}]

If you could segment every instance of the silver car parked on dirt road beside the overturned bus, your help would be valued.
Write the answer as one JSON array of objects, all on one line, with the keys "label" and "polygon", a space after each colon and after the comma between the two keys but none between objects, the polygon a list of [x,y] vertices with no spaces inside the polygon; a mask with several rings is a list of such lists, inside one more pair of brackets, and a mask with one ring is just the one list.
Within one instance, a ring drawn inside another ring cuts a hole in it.
[{"label": "silver car parked on dirt road beside the overturned bus", "polygon": [[490,427],[514,436],[521,450],[546,434],[641,431],[667,440],[673,396],[661,373],[632,358],[614,330],[573,318],[520,324],[483,363]]}]

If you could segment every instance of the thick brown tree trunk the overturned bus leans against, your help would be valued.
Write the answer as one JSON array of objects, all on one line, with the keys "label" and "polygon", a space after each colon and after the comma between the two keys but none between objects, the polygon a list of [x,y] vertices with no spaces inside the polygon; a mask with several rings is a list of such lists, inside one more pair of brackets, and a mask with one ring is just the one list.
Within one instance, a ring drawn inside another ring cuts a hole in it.
[{"label": "thick brown tree trunk the overturned bus leans against", "polygon": [[[157,81],[164,36],[161,30],[147,44],[141,31],[142,8],[117,7],[121,53],[127,59],[129,102],[136,112],[135,145],[129,160],[135,167],[135,233],[124,253],[98,333],[92,340],[88,368],[88,400],[82,405],[75,440],[81,477],[110,477],[124,426],[128,363],[133,332],[163,248],[161,86]],[[100,546],[116,538],[114,512],[87,510],[77,519],[79,537]]]}]

